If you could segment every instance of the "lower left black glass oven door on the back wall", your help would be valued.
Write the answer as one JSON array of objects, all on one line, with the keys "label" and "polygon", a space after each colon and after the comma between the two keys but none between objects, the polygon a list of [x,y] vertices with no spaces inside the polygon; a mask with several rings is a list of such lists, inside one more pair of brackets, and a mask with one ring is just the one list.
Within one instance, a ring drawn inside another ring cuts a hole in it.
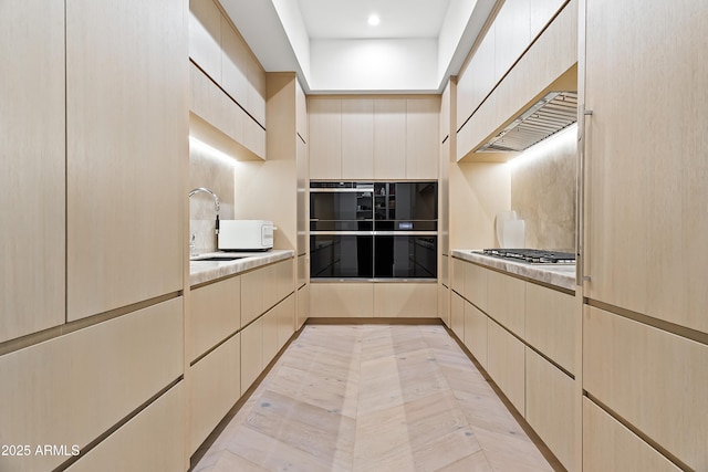
[{"label": "lower left black glass oven door on the back wall", "polygon": [[311,233],[310,277],[372,280],[373,248],[371,231]]}]

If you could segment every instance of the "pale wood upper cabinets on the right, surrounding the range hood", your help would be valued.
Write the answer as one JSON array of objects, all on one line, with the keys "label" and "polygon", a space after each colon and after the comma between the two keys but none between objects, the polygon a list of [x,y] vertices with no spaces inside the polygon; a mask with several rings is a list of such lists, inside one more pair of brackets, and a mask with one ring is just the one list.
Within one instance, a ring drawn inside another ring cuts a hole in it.
[{"label": "pale wood upper cabinets on the right, surrounding the range hood", "polygon": [[577,0],[503,2],[458,76],[457,159],[507,160],[475,150],[548,92],[576,91],[576,62]]}]

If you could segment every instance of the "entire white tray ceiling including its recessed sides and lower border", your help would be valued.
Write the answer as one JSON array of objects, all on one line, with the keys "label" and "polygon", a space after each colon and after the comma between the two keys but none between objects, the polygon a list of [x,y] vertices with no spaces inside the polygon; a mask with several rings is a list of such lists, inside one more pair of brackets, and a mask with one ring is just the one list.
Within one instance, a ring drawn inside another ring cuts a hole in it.
[{"label": "entire white tray ceiling including its recessed sides and lower border", "polygon": [[266,71],[295,71],[320,94],[441,92],[496,2],[220,0]]}]

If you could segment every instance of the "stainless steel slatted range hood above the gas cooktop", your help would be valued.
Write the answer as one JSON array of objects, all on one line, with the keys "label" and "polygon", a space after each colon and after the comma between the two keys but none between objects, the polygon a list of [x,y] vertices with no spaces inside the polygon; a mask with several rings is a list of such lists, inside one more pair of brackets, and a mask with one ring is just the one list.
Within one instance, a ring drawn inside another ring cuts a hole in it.
[{"label": "stainless steel slatted range hood above the gas cooktop", "polygon": [[514,118],[477,153],[528,149],[577,122],[577,92],[550,92]]}]

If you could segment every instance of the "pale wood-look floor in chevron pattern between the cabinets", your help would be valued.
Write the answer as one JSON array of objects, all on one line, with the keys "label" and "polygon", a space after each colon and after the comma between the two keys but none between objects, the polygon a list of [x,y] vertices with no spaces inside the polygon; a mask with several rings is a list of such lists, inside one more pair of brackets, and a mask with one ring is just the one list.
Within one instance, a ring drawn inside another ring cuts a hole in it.
[{"label": "pale wood-look floor in chevron pattern between the cabinets", "polygon": [[436,325],[308,325],[194,472],[552,471]]}]

